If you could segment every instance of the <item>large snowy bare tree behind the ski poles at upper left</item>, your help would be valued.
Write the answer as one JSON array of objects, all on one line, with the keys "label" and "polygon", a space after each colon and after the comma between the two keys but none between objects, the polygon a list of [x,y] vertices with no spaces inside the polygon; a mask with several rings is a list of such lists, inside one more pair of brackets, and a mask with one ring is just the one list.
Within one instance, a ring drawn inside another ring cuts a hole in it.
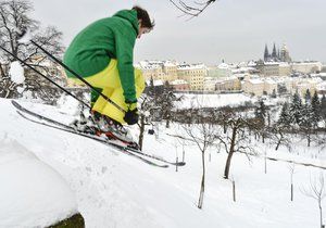
[{"label": "large snowy bare tree behind the ski poles at upper left", "polygon": [[[46,55],[35,46],[20,42],[20,37],[22,33],[28,30],[34,41],[38,42],[51,54],[61,56],[63,53],[63,47],[61,45],[62,33],[52,26],[43,29],[40,28],[40,23],[28,15],[32,11],[33,5],[29,1],[0,1],[0,45],[14,55],[38,67],[38,69],[45,74],[48,74],[48,67],[42,65]],[[3,51],[0,52],[0,84],[2,90],[0,96],[7,98],[14,97],[16,94],[15,90],[20,85],[11,81],[8,71],[9,64],[15,61],[15,58]],[[45,80],[40,80],[39,77],[35,78],[35,76],[26,78],[26,89],[37,88],[38,84],[45,83]]]}]

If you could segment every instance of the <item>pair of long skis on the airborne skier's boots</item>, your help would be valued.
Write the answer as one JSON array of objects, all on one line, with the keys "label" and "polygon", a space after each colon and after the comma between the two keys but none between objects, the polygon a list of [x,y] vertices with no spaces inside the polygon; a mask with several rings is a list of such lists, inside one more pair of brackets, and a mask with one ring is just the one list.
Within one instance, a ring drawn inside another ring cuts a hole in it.
[{"label": "pair of long skis on the airborne skier's boots", "polygon": [[[78,131],[78,130],[76,130],[75,128],[73,128],[73,127],[71,127],[68,125],[62,124],[62,123],[57,122],[54,119],[48,118],[46,116],[42,116],[42,115],[40,115],[38,113],[29,111],[29,110],[25,109],[24,106],[22,106],[21,104],[18,104],[16,101],[12,101],[12,103],[13,103],[13,105],[18,111],[24,112],[24,113],[29,114],[29,115],[32,115],[32,116],[40,119],[40,121],[45,121],[46,122],[46,123],[43,123],[43,122],[34,121],[34,119],[28,118],[27,116],[23,115],[23,113],[18,113],[22,117],[24,117],[24,118],[26,118],[28,121],[32,121],[34,123],[41,124],[41,125],[45,125],[45,126],[48,126],[48,127],[52,127],[52,128],[55,128],[55,129],[64,130],[64,131],[71,132],[71,134],[79,135],[79,136],[83,136],[83,137],[86,137],[86,138],[90,138],[90,139],[93,139],[96,141],[99,141],[99,142],[102,142],[102,143],[105,143],[105,144],[113,145],[113,147],[115,147],[117,149],[123,150],[125,153],[128,153],[130,155],[133,154],[134,156],[140,157],[140,160],[146,160],[143,157],[143,156],[146,156],[146,157],[149,157],[149,159],[152,159],[152,160],[165,163],[165,164],[175,165],[175,166],[184,166],[186,164],[185,162],[178,162],[178,163],[168,162],[168,161],[166,161],[164,159],[161,159],[159,156],[143,153],[140,150],[127,147],[126,144],[124,144],[123,141],[120,141],[120,140],[109,140],[108,138],[102,138],[102,137],[98,137],[96,135],[91,135],[91,134],[86,134],[86,132],[83,132],[83,131]],[[156,163],[154,163],[152,161],[149,161],[149,160],[146,160],[143,162],[146,162],[146,163],[153,163],[152,165],[159,166],[159,167],[168,167],[167,165],[160,165],[160,164],[156,164]]]}]

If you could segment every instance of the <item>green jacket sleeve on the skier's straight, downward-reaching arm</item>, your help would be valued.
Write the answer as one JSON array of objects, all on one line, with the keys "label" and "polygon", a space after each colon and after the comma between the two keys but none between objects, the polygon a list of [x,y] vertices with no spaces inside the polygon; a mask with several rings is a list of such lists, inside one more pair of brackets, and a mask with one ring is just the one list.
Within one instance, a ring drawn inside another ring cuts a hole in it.
[{"label": "green jacket sleeve on the skier's straight, downward-reaching arm", "polygon": [[127,103],[137,101],[133,66],[136,36],[136,31],[129,26],[120,27],[120,29],[115,31],[117,69]]}]

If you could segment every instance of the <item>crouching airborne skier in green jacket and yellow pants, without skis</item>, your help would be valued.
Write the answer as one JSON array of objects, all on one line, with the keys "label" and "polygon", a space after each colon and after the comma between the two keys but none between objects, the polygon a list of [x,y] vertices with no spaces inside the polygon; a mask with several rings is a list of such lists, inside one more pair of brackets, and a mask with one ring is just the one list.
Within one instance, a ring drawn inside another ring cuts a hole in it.
[{"label": "crouching airborne skier in green jacket and yellow pants, without skis", "polygon": [[[79,31],[64,54],[68,67],[125,110],[91,91],[92,114],[97,121],[104,118],[110,128],[138,122],[137,98],[145,89],[145,79],[133,66],[133,52],[136,38],[153,27],[148,12],[140,7],[122,10]],[[83,85],[71,72],[66,75],[68,80]]]}]

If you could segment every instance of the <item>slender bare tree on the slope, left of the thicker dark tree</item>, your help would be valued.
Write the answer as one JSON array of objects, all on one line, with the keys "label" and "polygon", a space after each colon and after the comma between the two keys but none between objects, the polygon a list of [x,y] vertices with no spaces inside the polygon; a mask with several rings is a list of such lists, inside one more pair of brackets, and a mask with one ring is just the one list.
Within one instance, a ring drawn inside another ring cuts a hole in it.
[{"label": "slender bare tree on the slope, left of the thicker dark tree", "polygon": [[204,189],[205,189],[205,152],[209,147],[213,145],[216,140],[216,126],[210,123],[200,122],[199,124],[184,125],[186,135],[197,144],[201,152],[202,178],[200,185],[200,194],[198,200],[198,208],[202,208]]}]

